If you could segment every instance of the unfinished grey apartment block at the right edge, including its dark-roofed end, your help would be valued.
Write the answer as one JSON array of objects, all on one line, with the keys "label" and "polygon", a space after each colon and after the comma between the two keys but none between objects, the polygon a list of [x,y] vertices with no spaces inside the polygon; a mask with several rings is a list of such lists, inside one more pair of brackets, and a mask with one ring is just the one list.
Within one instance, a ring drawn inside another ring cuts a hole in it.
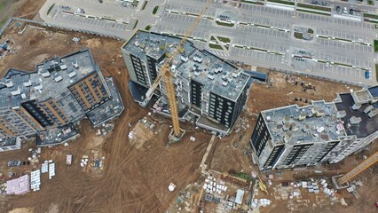
[{"label": "unfinished grey apartment block at the right edge, including its dark-roofed end", "polygon": [[262,111],[250,145],[260,170],[340,162],[378,138],[378,87],[339,94],[334,102]]}]

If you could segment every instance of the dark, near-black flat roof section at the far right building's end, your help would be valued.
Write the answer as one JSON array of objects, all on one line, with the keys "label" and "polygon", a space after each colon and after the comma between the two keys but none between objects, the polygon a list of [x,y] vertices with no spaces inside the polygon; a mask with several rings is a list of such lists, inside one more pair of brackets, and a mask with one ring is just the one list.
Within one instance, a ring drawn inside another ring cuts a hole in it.
[{"label": "dark, near-black flat roof section at the far right building's end", "polygon": [[[339,102],[335,103],[335,105],[338,110],[345,111],[346,115],[343,117],[343,122],[345,127],[349,129],[347,131],[348,135],[356,135],[357,138],[365,138],[378,130],[378,115],[369,118],[369,116],[364,113],[369,106],[378,109],[378,103],[374,103],[373,105],[369,103],[362,104],[358,109],[353,110],[352,106],[354,106],[355,101],[351,93],[340,94],[339,98]],[[349,125],[350,118],[352,117],[360,118],[360,122]],[[348,126],[350,127],[348,128]]]}]

